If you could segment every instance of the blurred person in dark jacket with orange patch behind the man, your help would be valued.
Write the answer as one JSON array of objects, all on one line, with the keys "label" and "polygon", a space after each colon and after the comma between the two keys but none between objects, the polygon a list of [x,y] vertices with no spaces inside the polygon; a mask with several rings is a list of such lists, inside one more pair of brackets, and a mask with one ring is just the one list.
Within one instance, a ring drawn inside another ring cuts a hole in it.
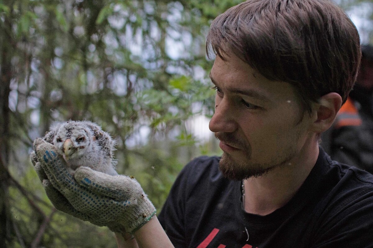
[{"label": "blurred person in dark jacket with orange patch behind the man", "polygon": [[322,133],[322,147],[333,160],[373,173],[373,46],[363,45],[361,52],[354,89]]}]

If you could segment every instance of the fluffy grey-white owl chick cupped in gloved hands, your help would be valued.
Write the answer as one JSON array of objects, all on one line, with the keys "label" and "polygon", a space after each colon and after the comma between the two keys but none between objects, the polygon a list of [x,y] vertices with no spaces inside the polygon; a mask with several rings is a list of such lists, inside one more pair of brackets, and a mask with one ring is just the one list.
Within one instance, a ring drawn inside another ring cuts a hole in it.
[{"label": "fluffy grey-white owl chick cupped in gloved hands", "polygon": [[115,141],[109,133],[90,121],[56,122],[43,139],[53,144],[72,170],[88,166],[96,171],[117,175],[113,159]]}]

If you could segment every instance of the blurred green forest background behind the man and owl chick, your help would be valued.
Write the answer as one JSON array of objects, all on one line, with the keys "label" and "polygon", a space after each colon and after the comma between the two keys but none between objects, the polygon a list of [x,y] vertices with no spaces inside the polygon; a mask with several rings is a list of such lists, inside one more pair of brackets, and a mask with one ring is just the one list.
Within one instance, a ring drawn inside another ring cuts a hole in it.
[{"label": "blurred green forest background behind the man and owl chick", "polygon": [[[0,248],[116,247],[106,227],[57,211],[32,168],[32,142],[56,120],[109,132],[119,173],[158,210],[188,161],[220,154],[205,36],[239,2],[0,1]],[[372,43],[372,0],[336,2]]]}]

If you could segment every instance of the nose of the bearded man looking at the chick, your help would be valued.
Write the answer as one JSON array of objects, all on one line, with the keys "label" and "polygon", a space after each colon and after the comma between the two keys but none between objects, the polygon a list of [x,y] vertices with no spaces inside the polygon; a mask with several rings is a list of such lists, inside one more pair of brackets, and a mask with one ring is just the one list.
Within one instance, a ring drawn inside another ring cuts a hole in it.
[{"label": "nose of the bearded man looking at the chick", "polygon": [[234,119],[234,109],[225,99],[222,99],[215,107],[215,113],[212,116],[209,128],[211,132],[234,132],[237,129],[237,123]]}]

